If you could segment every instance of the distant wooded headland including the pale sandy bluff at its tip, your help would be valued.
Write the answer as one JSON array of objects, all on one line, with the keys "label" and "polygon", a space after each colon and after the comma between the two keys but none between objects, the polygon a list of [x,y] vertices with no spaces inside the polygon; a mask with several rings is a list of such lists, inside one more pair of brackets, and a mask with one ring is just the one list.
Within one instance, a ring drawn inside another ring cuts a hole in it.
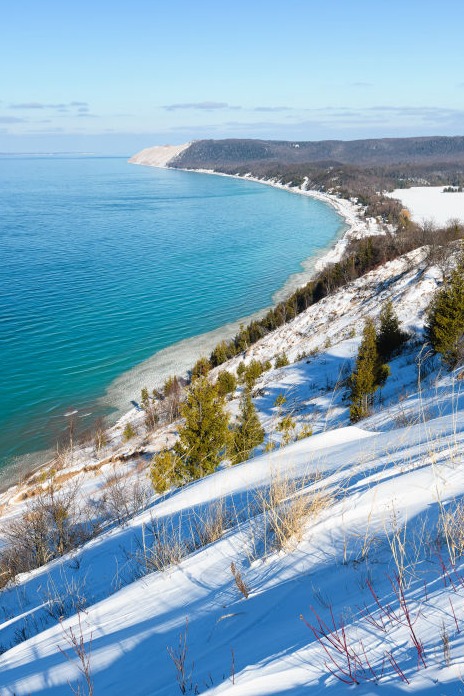
[{"label": "distant wooded headland including the pale sandy bluff at its tip", "polygon": [[[382,138],[284,142],[275,140],[197,140],[155,146],[130,162],[148,166],[200,169],[253,175],[367,204],[378,191],[414,185],[462,185],[464,137]],[[375,212],[377,214],[377,211]]]}]

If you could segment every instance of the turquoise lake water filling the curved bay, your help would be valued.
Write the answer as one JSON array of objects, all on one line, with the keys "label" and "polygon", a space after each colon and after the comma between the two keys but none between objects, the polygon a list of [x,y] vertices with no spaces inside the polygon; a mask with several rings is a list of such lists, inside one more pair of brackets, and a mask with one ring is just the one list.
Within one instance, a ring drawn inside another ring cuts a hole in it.
[{"label": "turquoise lake water filling the curved bay", "polygon": [[[0,465],[103,412],[121,374],[269,306],[330,207],[120,158],[0,158]],[[128,395],[127,407],[130,407]]]}]

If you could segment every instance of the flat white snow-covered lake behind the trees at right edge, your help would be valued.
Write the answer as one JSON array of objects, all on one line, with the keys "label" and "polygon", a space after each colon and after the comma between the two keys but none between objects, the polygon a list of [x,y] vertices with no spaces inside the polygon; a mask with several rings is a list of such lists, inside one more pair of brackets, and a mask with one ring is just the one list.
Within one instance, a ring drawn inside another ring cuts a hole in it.
[{"label": "flat white snow-covered lake behind the trees at right edge", "polygon": [[464,221],[464,193],[443,193],[443,186],[413,186],[385,195],[397,198],[411,213],[414,222],[446,225]]}]

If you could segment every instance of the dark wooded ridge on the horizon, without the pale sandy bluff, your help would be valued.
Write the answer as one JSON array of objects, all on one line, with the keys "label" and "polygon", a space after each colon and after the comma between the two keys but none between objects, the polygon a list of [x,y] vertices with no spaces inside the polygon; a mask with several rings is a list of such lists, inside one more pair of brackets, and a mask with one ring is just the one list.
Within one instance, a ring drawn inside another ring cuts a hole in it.
[{"label": "dark wooded ridge on the horizon, without the pale sandy bluff", "polygon": [[275,141],[197,140],[169,162],[170,167],[230,171],[244,164],[398,164],[464,165],[464,137],[382,138],[369,140]]}]

